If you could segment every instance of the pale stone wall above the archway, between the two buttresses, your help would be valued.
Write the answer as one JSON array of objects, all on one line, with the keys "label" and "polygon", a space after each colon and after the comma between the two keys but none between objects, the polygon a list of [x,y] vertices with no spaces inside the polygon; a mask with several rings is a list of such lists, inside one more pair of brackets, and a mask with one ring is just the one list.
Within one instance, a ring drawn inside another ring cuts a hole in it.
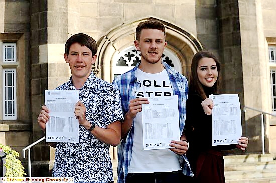
[{"label": "pale stone wall above the archway, between the two buttresses", "polygon": [[69,33],[87,33],[96,41],[125,23],[155,17],[196,35],[195,0],[68,1]]}]

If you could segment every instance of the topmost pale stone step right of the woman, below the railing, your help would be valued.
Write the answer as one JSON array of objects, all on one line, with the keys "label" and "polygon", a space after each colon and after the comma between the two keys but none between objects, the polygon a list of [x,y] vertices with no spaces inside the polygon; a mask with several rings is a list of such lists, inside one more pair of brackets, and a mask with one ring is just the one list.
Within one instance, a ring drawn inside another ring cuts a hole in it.
[{"label": "topmost pale stone step right of the woman, below the railing", "polygon": [[226,155],[223,157],[225,165],[246,162],[271,162],[275,159],[275,154],[246,154],[246,155]]}]

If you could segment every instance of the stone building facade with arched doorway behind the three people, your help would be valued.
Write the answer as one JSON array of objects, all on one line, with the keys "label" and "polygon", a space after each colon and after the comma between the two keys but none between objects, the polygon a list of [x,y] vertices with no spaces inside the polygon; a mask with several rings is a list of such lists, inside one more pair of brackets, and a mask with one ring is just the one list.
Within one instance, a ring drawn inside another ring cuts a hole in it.
[{"label": "stone building facade with arched doorway behind the three people", "polygon": [[[94,71],[111,82],[139,60],[135,28],[147,19],[166,26],[163,60],[187,78],[192,56],[213,52],[223,66],[223,93],[238,93],[242,108],[276,111],[275,0],[0,0],[0,14],[0,143],[21,159],[22,149],[44,136],[37,125],[44,90],[70,77],[63,59],[68,37],[95,38]],[[260,113],[242,112],[242,127],[250,139],[246,153],[260,153]],[[275,144],[276,122],[265,116],[266,153],[276,153]],[[49,175],[53,161],[53,148],[36,145],[33,176]]]}]

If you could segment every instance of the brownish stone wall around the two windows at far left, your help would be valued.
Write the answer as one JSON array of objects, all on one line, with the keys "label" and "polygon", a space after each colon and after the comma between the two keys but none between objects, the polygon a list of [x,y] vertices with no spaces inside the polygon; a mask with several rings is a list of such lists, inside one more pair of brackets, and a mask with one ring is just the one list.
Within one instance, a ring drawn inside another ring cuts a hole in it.
[{"label": "brownish stone wall around the two windows at far left", "polygon": [[[31,102],[30,102],[30,15],[29,0],[0,0],[0,41],[17,43],[17,62],[11,68],[17,69],[17,120],[0,121],[0,143],[10,146],[20,153],[25,169],[27,161],[23,159],[22,149],[32,141]],[[2,44],[1,44],[2,45]],[[1,49],[2,52],[2,49]],[[2,62],[2,53],[1,62]],[[2,68],[7,68],[1,63]],[[0,77],[2,85],[2,76]],[[0,90],[2,102],[2,89]],[[19,138],[20,136],[20,138]],[[27,169],[26,169],[27,170]]]}]

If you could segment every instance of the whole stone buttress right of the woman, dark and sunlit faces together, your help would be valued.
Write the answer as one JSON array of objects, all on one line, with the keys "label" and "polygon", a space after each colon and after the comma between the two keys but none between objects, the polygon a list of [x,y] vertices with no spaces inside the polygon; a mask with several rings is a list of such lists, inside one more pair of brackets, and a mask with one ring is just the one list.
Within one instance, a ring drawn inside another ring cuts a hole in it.
[{"label": "whole stone buttress right of the woman, dark and sunlit faces together", "polygon": [[[218,0],[223,92],[238,93],[244,106],[269,111],[269,80],[261,0]],[[269,122],[266,121],[268,126]],[[242,112],[243,136],[248,152],[261,152],[260,114]],[[268,133],[268,131],[266,131]],[[266,138],[266,144],[268,139]],[[268,145],[266,145],[266,150]]]}]

